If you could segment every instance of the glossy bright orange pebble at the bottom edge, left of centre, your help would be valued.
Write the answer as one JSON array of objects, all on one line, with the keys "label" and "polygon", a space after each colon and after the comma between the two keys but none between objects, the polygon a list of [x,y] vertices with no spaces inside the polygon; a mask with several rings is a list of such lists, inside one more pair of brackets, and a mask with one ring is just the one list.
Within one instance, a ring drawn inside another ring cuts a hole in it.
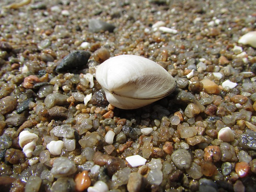
[{"label": "glossy bright orange pebble at the bottom edge, left of centre", "polygon": [[75,178],[76,191],[82,192],[86,190],[91,185],[91,179],[88,176],[88,171],[83,171],[78,173]]}]

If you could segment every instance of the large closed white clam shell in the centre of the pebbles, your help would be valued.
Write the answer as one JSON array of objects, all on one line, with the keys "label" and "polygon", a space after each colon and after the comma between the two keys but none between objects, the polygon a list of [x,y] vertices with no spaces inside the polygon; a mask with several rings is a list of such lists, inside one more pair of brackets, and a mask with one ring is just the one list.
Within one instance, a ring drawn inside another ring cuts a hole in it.
[{"label": "large closed white clam shell in the centre of the pebbles", "polygon": [[110,58],[96,69],[110,104],[136,109],[160,100],[176,88],[174,78],[156,62],[136,55]]}]

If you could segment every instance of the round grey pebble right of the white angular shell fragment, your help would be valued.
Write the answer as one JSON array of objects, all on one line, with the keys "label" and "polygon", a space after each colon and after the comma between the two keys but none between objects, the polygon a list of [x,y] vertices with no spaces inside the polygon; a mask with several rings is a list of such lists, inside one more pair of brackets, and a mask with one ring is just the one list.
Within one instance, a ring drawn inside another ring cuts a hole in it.
[{"label": "round grey pebble right of the white angular shell fragment", "polygon": [[192,157],[187,150],[178,149],[171,155],[172,161],[179,169],[188,169],[192,163]]}]

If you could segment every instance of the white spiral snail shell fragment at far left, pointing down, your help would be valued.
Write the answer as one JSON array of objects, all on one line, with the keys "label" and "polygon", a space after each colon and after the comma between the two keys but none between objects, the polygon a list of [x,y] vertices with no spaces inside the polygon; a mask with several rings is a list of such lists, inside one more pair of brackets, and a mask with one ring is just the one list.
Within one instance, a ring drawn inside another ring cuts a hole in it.
[{"label": "white spiral snail shell fragment at far left, pointing down", "polygon": [[30,133],[29,131],[22,131],[19,135],[19,145],[23,148],[23,152],[26,157],[32,157],[32,153],[36,147],[38,135]]}]

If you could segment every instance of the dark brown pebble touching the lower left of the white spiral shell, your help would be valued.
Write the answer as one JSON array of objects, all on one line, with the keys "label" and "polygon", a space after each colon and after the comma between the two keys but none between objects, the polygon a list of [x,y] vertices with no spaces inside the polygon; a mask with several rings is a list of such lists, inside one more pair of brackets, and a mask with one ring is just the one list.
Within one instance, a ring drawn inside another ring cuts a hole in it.
[{"label": "dark brown pebble touching the lower left of the white spiral shell", "polygon": [[21,150],[10,148],[6,150],[5,160],[10,164],[24,163],[25,155]]}]

